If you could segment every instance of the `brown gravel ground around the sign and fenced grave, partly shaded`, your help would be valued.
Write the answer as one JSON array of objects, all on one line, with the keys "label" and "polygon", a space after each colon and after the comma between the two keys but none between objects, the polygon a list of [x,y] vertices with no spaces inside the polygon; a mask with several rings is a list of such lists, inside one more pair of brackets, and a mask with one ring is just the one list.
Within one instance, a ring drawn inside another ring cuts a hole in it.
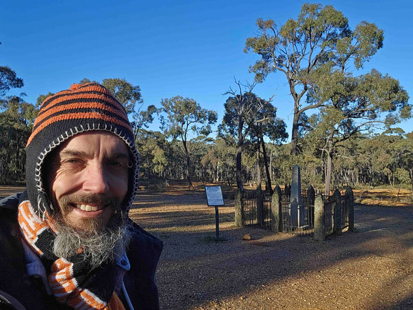
[{"label": "brown gravel ground around the sign and fenced grave, partly shaded", "polygon": [[[413,207],[356,205],[357,232],[326,242],[233,226],[203,194],[143,194],[131,217],[165,242],[162,309],[413,309]],[[250,234],[252,240],[242,240]]]}]

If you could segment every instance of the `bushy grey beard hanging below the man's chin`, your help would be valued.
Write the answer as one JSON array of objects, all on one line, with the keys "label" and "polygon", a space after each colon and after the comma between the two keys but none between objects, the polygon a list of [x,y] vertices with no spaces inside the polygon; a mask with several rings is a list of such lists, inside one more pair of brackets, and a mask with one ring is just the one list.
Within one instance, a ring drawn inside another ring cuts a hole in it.
[{"label": "bushy grey beard hanging below the man's chin", "polygon": [[121,214],[115,214],[105,228],[92,231],[78,231],[65,223],[58,223],[54,255],[67,259],[82,249],[91,269],[120,258],[131,240],[131,225],[126,224]]}]

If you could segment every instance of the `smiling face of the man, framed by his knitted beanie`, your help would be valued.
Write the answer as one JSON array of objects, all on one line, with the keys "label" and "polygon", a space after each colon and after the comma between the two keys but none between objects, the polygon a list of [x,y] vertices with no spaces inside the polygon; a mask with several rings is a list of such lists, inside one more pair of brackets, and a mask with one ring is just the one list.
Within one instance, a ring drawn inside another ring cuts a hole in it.
[{"label": "smiling face of the man, framed by his knitted beanie", "polygon": [[127,194],[125,142],[109,132],[78,134],[63,143],[51,161],[49,191],[63,222],[80,231],[105,227]]}]

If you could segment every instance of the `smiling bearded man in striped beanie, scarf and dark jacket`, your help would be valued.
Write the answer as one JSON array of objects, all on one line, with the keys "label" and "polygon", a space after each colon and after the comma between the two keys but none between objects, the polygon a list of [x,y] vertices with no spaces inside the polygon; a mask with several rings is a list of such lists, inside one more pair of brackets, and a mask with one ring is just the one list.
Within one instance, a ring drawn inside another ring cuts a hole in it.
[{"label": "smiling bearded man in striped beanie, scarf and dark jacket", "polygon": [[26,191],[0,202],[1,309],[158,309],[162,242],[128,217],[138,155],[123,106],[98,83],[58,92],[26,155]]}]

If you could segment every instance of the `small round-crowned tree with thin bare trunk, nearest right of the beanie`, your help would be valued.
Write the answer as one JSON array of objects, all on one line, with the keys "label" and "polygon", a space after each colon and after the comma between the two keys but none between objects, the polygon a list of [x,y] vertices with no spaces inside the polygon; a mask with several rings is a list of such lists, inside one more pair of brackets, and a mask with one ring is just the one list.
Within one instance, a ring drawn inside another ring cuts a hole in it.
[{"label": "small round-crowned tree with thin bare trunk, nearest right of the beanie", "polygon": [[189,134],[208,136],[211,125],[217,121],[217,112],[203,109],[198,102],[190,98],[175,96],[162,99],[162,107],[158,110],[161,130],[167,137],[178,139],[187,159],[187,181],[189,189],[193,189],[191,182],[192,167],[188,149]]}]

